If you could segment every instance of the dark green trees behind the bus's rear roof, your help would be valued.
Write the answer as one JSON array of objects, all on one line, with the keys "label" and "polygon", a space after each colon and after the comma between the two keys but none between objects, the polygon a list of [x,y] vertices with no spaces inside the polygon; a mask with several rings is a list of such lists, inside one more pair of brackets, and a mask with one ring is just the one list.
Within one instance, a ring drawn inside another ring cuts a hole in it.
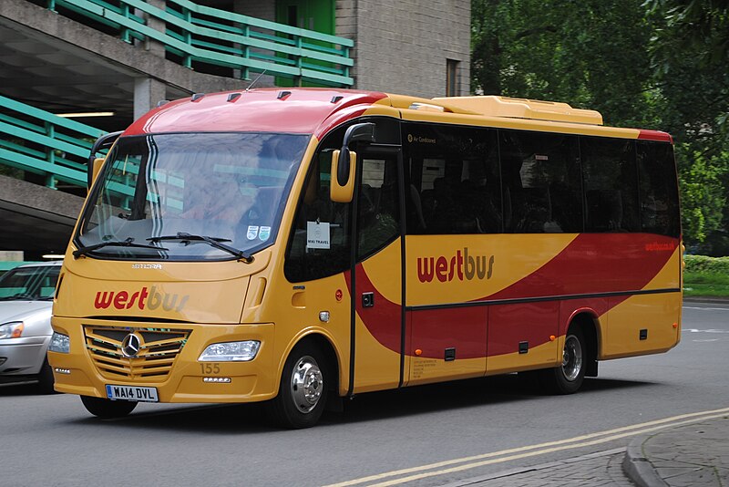
[{"label": "dark green trees behind the bus's rear roof", "polygon": [[472,0],[476,92],[676,140],[687,244],[729,243],[729,1]]}]

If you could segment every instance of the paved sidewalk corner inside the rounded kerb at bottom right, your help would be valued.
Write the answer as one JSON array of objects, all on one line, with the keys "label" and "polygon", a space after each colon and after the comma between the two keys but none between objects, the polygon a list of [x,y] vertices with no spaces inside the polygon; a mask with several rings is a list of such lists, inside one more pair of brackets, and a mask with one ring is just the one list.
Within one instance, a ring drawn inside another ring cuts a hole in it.
[{"label": "paved sidewalk corner inside the rounded kerb at bottom right", "polygon": [[729,486],[729,415],[632,440],[623,469],[641,487]]}]

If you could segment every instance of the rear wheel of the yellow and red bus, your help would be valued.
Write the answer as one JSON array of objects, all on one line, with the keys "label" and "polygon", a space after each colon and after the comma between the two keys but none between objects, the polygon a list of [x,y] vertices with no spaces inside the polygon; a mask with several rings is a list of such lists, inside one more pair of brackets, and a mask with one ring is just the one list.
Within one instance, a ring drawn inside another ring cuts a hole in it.
[{"label": "rear wheel of the yellow and red bus", "polygon": [[542,385],[552,394],[573,394],[582,386],[587,369],[587,345],[580,328],[570,328],[564,339],[560,367],[542,371]]}]

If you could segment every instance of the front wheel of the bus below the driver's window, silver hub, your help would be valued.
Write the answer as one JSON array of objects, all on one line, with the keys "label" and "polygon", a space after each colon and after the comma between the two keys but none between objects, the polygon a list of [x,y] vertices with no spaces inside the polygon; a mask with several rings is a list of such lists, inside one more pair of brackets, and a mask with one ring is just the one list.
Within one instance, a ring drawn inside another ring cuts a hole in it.
[{"label": "front wheel of the bus below the driver's window, silver hub", "polygon": [[322,353],[311,343],[293,348],[286,358],[279,394],[269,404],[269,415],[278,426],[293,430],[311,428],[326,405],[329,373]]}]

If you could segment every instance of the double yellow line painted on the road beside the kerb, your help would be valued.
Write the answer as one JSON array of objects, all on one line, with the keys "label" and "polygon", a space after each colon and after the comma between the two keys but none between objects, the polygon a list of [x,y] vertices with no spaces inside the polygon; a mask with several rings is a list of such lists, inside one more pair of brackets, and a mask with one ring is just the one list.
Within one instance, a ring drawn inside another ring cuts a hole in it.
[{"label": "double yellow line painted on the road beside the kerb", "polygon": [[[386,487],[388,485],[396,485],[405,482],[413,482],[427,477],[436,477],[438,475],[445,475],[447,473],[454,473],[457,471],[465,471],[482,467],[485,465],[491,465],[494,463],[502,463],[505,461],[519,460],[538,455],[544,455],[546,453],[553,453],[555,451],[574,450],[586,446],[598,445],[600,443],[607,443],[612,440],[620,440],[621,438],[627,438],[630,436],[636,436],[643,433],[652,432],[655,430],[662,430],[669,426],[682,426],[684,424],[690,424],[700,420],[712,420],[715,418],[721,418],[729,413],[729,408],[714,409],[701,412],[693,412],[688,414],[681,414],[679,416],[673,416],[671,418],[664,418],[662,420],[652,420],[644,423],[634,424],[631,426],[624,426],[616,428],[614,430],[600,431],[596,433],[590,433],[568,440],[556,440],[548,441],[546,443],[539,443],[537,445],[523,446],[519,448],[512,448],[502,451],[492,451],[489,453],[483,453],[481,455],[474,455],[471,457],[464,457],[460,459],[438,461],[436,463],[430,463],[427,465],[421,465],[419,467],[411,467],[408,469],[402,469],[397,471],[387,471],[384,473],[378,473],[375,475],[369,475],[360,479],[354,479],[351,481],[334,483],[325,487],[346,487],[349,485],[357,485],[360,483],[367,483],[369,486]],[[460,465],[459,465],[460,464]],[[455,465],[455,466],[451,466]],[[448,468],[443,468],[448,467]],[[435,470],[440,469],[440,470]],[[412,474],[412,475],[407,475]],[[407,475],[406,477],[400,477],[401,475]],[[393,480],[393,477],[400,477]],[[375,482],[375,483],[369,483]]]}]

